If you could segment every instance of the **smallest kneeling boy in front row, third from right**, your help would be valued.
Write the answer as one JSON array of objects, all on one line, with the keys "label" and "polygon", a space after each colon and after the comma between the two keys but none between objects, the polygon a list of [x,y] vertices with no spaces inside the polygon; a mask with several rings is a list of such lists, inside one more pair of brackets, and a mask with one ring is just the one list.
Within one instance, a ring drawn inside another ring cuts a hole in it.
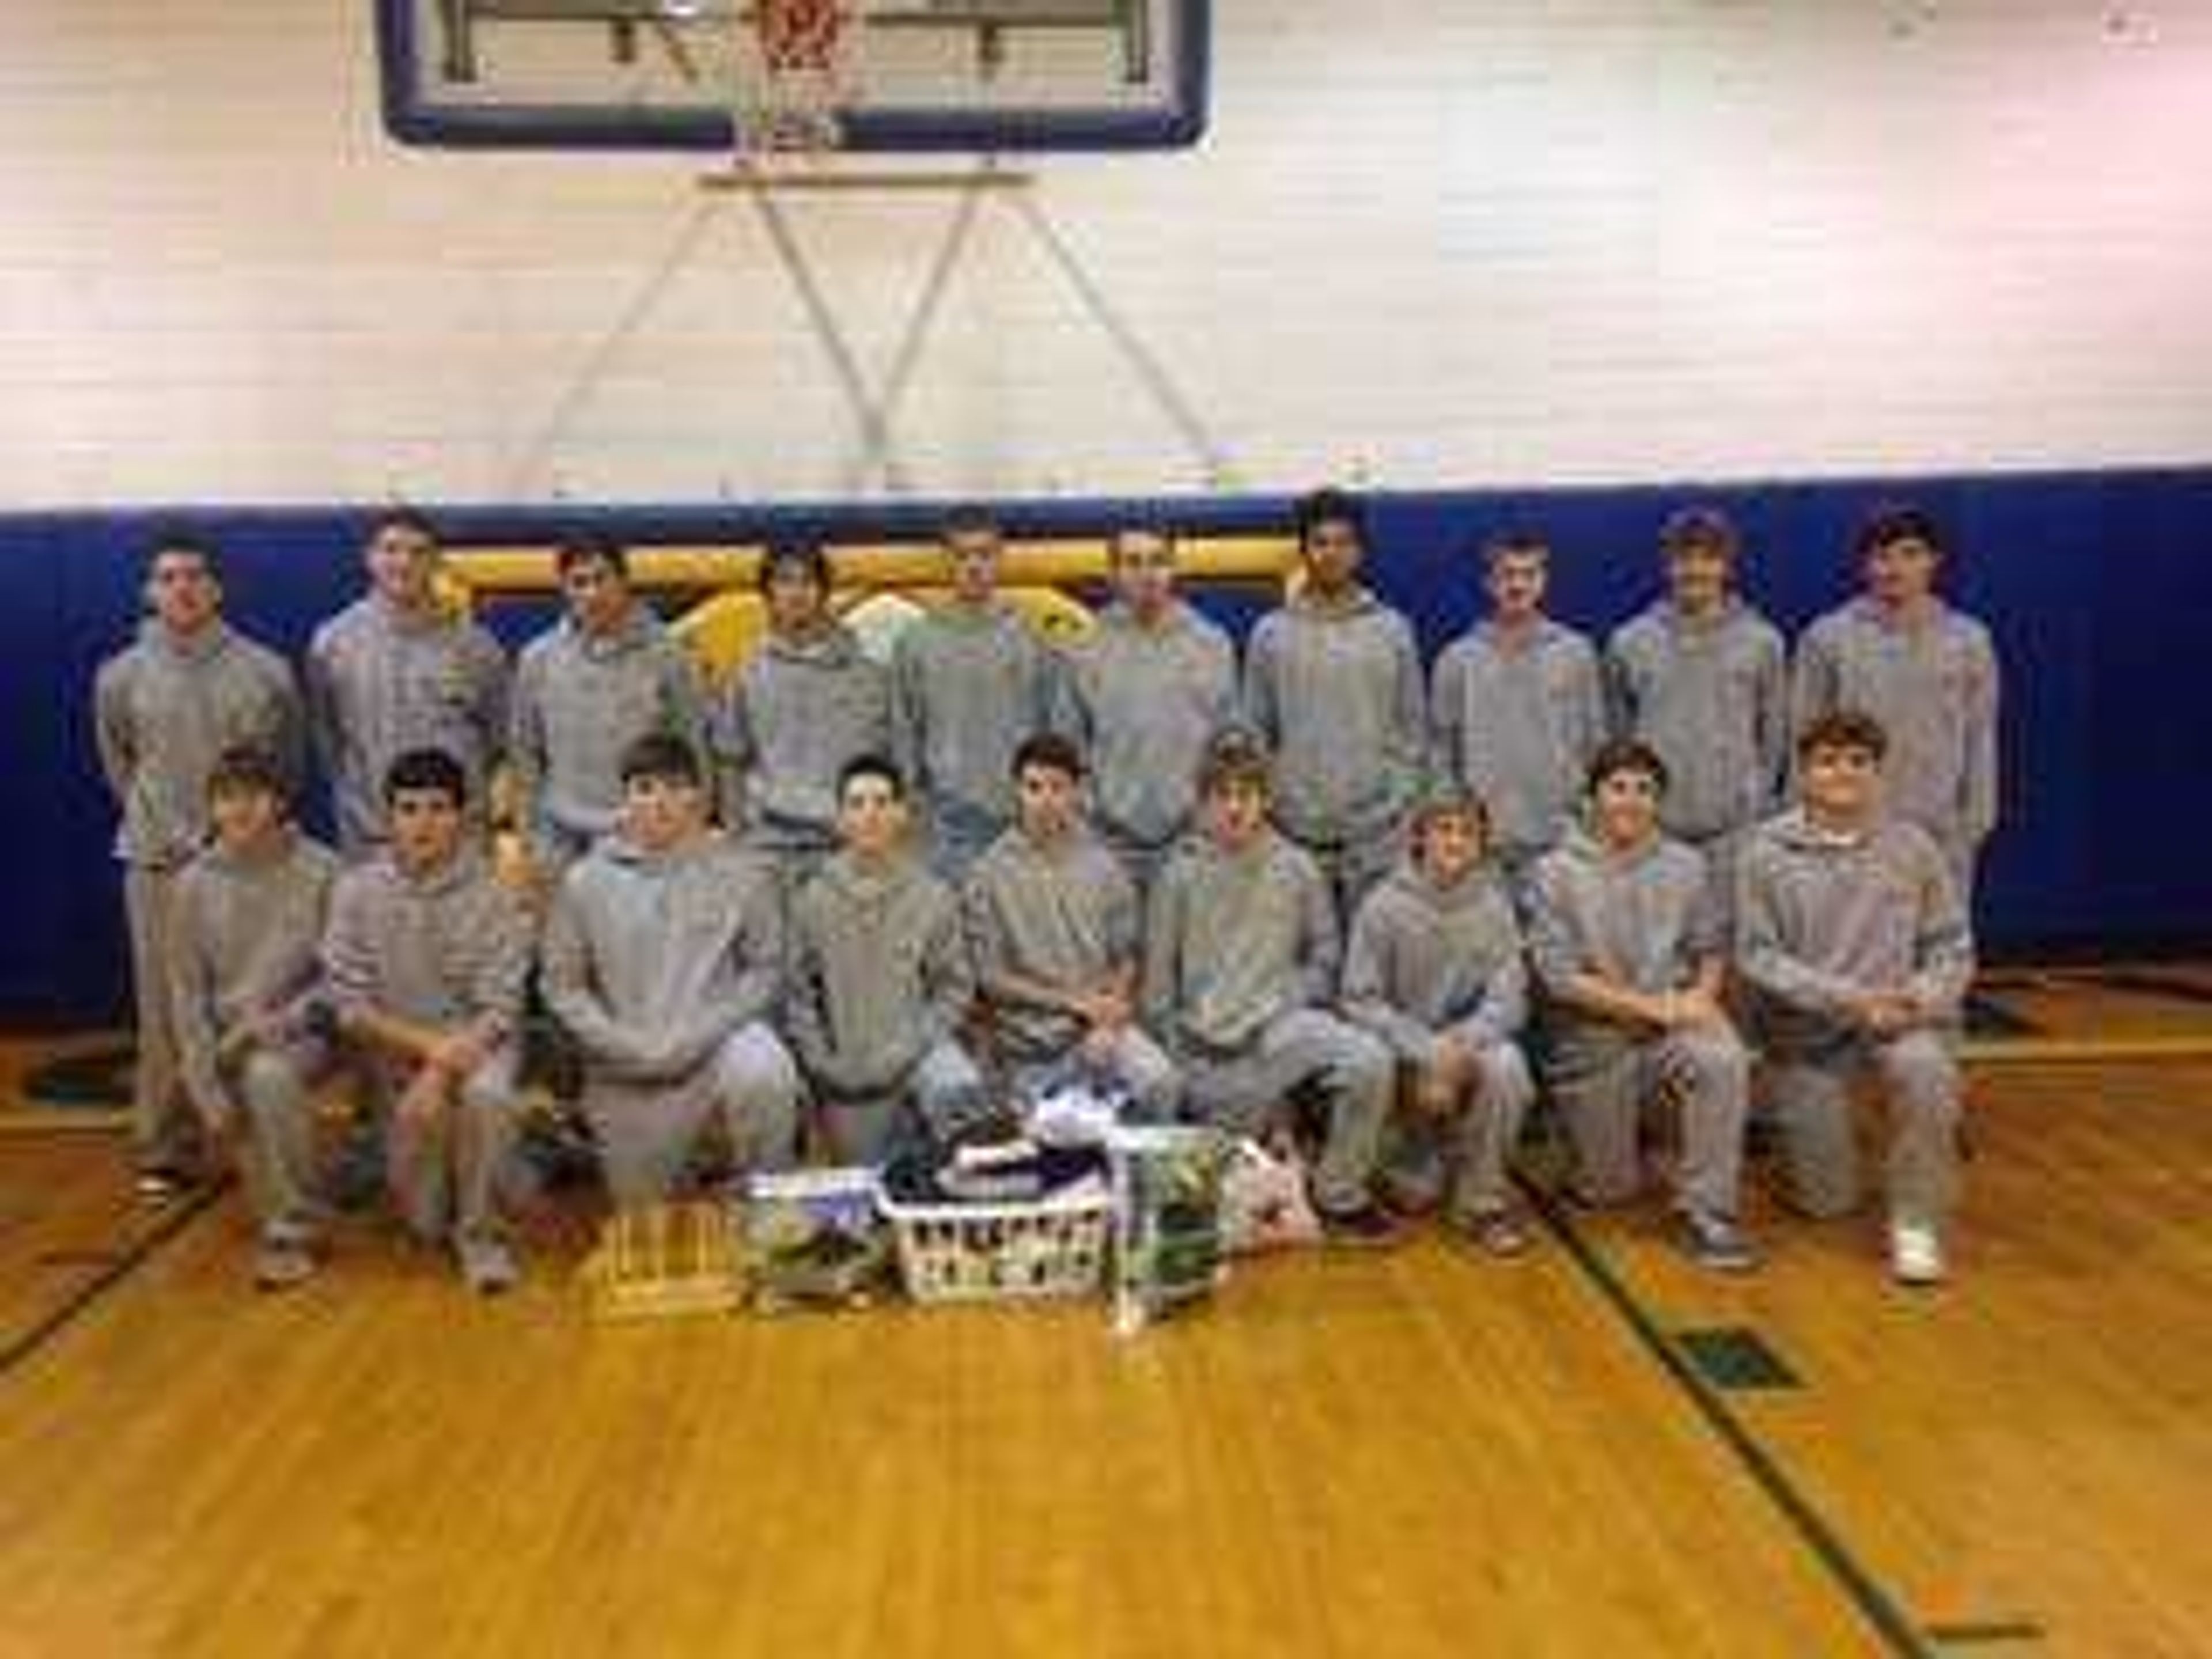
[{"label": "smallest kneeling boy in front row, third from right", "polygon": [[1352,922],[1343,1002],[1407,1084],[1385,1183],[1411,1208],[1442,1199],[1453,1228],[1511,1256],[1528,1248],[1509,1161],[1535,1088],[1517,1042],[1522,931],[1486,863],[1486,827],[1471,794],[1431,790],[1411,856]]}]

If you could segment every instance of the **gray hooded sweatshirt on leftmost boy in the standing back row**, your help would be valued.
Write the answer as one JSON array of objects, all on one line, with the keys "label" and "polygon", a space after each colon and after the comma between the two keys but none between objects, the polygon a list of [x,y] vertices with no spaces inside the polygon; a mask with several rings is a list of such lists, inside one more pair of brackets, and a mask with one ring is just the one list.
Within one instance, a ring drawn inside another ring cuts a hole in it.
[{"label": "gray hooded sweatshirt on leftmost boy in the standing back row", "polygon": [[294,783],[305,723],[292,668],[228,624],[179,639],[148,619],[93,679],[100,768],[122,805],[115,856],[177,869],[208,834],[208,772],[226,748],[268,750]]}]

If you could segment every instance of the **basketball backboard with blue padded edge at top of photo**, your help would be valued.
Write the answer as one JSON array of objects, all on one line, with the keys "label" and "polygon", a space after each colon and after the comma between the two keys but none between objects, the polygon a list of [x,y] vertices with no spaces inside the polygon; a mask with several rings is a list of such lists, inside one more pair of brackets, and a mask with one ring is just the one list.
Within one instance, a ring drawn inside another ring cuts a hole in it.
[{"label": "basketball backboard with blue padded edge at top of photo", "polygon": [[838,38],[838,148],[1172,148],[1206,128],[1208,0],[378,0],[385,124],[409,144],[730,148],[763,27],[796,13]]}]

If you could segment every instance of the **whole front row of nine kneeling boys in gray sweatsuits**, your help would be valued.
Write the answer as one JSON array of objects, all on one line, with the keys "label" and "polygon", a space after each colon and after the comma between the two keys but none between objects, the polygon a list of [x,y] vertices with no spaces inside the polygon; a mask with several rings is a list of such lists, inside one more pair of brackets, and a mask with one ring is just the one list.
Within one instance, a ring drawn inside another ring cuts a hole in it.
[{"label": "whole front row of nine kneeling boys in gray sweatsuits", "polygon": [[[1648,1119],[1672,1113],[1679,1234],[1717,1270],[1756,1263],[1736,1221],[1741,1020],[1809,1214],[1858,1206],[1851,1086],[1880,1086],[1891,1272],[1931,1283],[1973,945],[1942,854],[1880,807],[1882,752],[1865,717],[1816,721],[1798,805],[1730,852],[1730,883],[1659,832],[1666,768],[1639,743],[1595,759],[1584,823],[1511,894],[1482,805],[1431,794],[1343,942],[1241,734],[1208,754],[1199,830],[1144,900],[1086,830],[1082,757],[1060,737],[1022,745],[1018,823],[958,896],[907,854],[891,763],[845,768],[841,849],[805,872],[717,832],[697,754],[648,737],[624,757],[619,830],[557,883],[540,987],[582,1053],[619,1206],[679,1192],[710,1144],[739,1175],[803,1141],[874,1164],[960,1137],[1009,1093],[1088,1079],[1139,1117],[1310,1130],[1329,1239],[1387,1241],[1440,1208],[1513,1254],[1531,1239],[1511,1161],[1535,1055],[1582,1203],[1637,1197]],[[190,1097],[246,1172],[259,1283],[319,1265],[314,1093],[345,1062],[380,1104],[405,1221],[469,1285],[504,1290],[533,925],[478,849],[465,772],[400,757],[389,847],[343,874],[292,827],[268,759],[226,754],[208,790],[215,836],[179,889],[170,973]]]}]

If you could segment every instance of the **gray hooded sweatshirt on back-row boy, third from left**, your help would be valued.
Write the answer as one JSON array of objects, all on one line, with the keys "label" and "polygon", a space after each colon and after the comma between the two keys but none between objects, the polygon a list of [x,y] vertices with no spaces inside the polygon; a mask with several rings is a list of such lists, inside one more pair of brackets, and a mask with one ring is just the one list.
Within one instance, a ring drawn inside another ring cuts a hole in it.
[{"label": "gray hooded sweatshirt on back-row boy, third from left", "polygon": [[560,622],[522,648],[509,757],[540,832],[591,843],[622,810],[622,752],[672,732],[706,754],[708,708],[690,655],[637,606],[613,635]]}]

